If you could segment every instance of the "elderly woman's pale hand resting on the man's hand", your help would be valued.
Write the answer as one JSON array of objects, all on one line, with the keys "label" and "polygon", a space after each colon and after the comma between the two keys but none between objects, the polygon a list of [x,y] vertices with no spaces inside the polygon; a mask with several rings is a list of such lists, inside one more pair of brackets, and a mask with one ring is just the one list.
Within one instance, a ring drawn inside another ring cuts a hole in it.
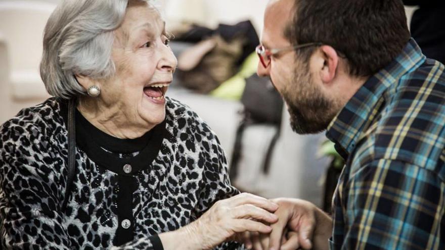
[{"label": "elderly woman's pale hand resting on the man's hand", "polygon": [[[160,234],[164,249],[212,249],[245,231],[269,234],[278,205],[268,199],[242,193],[216,202],[191,224]],[[179,243],[179,244],[178,244]]]}]

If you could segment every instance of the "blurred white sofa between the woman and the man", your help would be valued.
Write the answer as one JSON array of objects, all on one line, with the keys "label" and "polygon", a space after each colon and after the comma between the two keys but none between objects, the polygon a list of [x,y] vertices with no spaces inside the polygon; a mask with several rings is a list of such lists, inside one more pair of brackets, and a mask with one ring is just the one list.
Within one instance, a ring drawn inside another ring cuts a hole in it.
[{"label": "blurred white sofa between the woman and the man", "polygon": [[[235,134],[240,121],[238,101],[218,99],[180,89],[169,89],[167,95],[190,106],[218,135],[229,162],[233,153]],[[317,155],[326,138],[317,135],[298,135],[289,125],[289,113],[283,107],[280,137],[275,144],[269,174],[262,174],[264,156],[275,128],[266,125],[248,126],[242,139],[242,158],[238,163],[238,178],[232,180],[244,191],[268,198],[303,198],[321,206],[323,185],[320,183],[330,160]]]}]

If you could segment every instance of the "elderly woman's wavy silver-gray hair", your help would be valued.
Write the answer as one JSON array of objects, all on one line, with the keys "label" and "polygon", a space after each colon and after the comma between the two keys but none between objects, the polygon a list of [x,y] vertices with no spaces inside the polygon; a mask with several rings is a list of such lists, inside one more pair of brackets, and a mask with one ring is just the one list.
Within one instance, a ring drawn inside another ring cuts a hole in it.
[{"label": "elderly woman's wavy silver-gray hair", "polygon": [[[112,76],[114,34],[129,0],[64,0],[43,34],[40,77],[48,93],[62,98],[85,94],[74,75]],[[145,1],[149,2],[149,1]]]}]

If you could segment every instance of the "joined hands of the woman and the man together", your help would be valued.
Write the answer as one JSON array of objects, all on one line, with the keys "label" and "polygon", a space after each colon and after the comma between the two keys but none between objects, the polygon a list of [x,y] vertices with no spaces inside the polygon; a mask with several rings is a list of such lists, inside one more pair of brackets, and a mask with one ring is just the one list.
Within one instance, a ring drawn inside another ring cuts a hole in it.
[{"label": "joined hands of the woman and the man together", "polygon": [[186,239],[184,249],[212,249],[220,242],[237,241],[255,250],[295,250],[328,249],[331,232],[331,218],[314,204],[242,193],[216,202],[180,235]]}]

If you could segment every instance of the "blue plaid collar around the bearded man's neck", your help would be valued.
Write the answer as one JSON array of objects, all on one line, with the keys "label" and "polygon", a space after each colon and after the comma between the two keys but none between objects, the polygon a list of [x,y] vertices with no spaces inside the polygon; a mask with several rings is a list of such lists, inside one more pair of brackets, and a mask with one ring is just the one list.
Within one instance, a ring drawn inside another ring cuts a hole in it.
[{"label": "blue plaid collar around the bearded man's neck", "polygon": [[363,86],[349,99],[345,107],[328,126],[326,136],[340,146],[346,155],[350,155],[362,132],[367,127],[382,104],[381,97],[388,88],[408,72],[425,62],[420,47],[410,39],[408,44],[388,66],[371,76]]}]

